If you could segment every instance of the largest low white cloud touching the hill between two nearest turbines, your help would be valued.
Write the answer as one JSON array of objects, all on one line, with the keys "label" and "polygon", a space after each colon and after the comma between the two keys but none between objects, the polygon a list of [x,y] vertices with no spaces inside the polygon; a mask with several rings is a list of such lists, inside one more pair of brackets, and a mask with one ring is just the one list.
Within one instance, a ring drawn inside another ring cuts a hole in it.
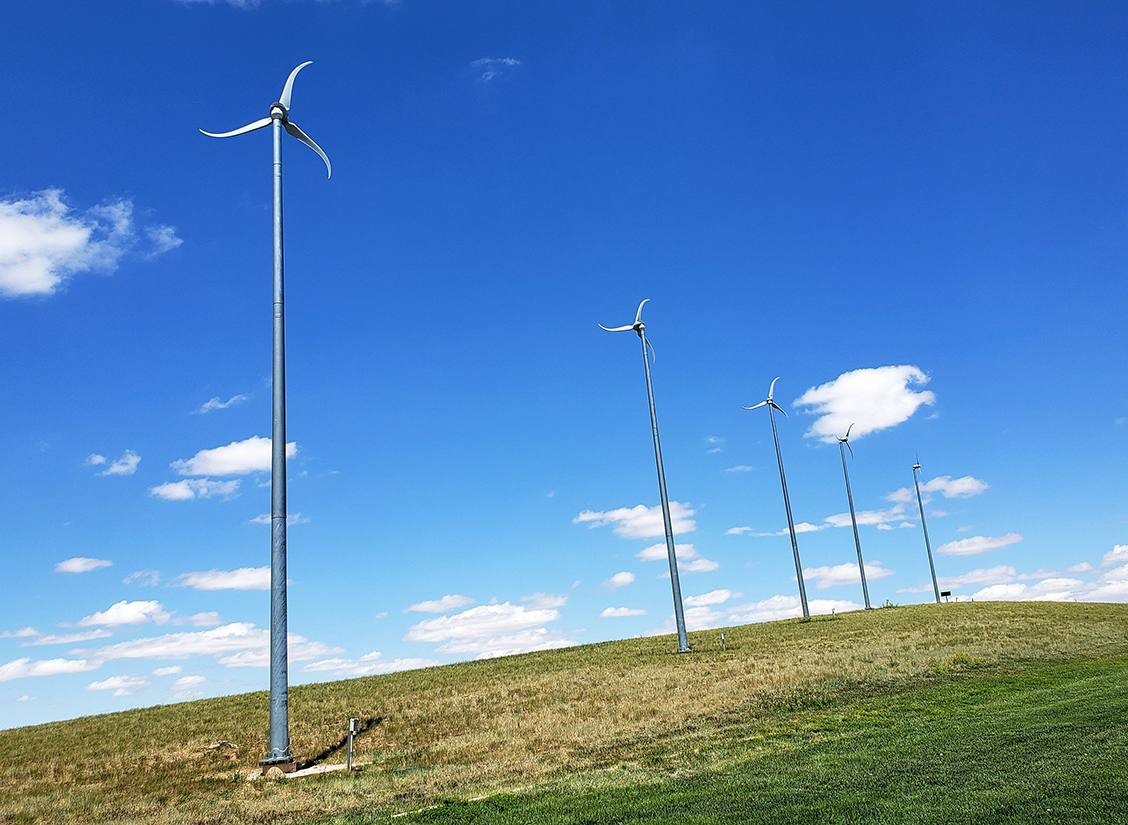
[{"label": "largest low white cloud touching the hill between two nearest turbines", "polygon": [[442,642],[440,653],[470,653],[477,658],[549,650],[573,644],[558,632],[538,627],[559,618],[559,612],[527,608],[509,602],[479,605],[453,616],[439,616],[413,624],[405,641]]}]

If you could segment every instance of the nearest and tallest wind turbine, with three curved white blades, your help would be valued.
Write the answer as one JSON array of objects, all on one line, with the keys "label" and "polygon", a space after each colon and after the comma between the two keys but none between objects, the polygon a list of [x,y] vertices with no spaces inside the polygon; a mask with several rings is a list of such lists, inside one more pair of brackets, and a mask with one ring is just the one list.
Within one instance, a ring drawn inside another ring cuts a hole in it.
[{"label": "nearest and tallest wind turbine, with three curved white blades", "polygon": [[273,126],[274,131],[274,351],[273,351],[273,406],[271,430],[271,740],[270,752],[259,764],[292,770],[290,751],[289,673],[287,650],[287,585],[285,585],[285,318],[282,283],[282,130],[308,146],[325,161],[333,176],[333,167],[321,148],[309,135],[290,122],[290,93],[298,72],[312,61],[306,61],[287,78],[282,96],[271,104],[270,115],[230,132],[204,132],[209,138],[233,138],[258,129]]}]

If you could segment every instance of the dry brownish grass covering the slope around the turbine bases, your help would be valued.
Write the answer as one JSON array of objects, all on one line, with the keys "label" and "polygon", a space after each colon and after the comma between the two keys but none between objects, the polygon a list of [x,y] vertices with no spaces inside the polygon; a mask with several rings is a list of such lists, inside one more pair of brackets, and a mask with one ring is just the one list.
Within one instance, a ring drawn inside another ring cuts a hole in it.
[{"label": "dry brownish grass covering the slope around the turbine bases", "polygon": [[[353,775],[247,782],[265,694],[0,731],[6,822],[291,822],[647,765],[725,736],[732,720],[898,691],[977,667],[1128,653],[1128,605],[923,605],[632,639],[291,691],[293,749],[337,744]],[[220,740],[238,745],[210,748]],[[756,743],[749,741],[749,748]],[[343,761],[341,756],[329,761]]]}]

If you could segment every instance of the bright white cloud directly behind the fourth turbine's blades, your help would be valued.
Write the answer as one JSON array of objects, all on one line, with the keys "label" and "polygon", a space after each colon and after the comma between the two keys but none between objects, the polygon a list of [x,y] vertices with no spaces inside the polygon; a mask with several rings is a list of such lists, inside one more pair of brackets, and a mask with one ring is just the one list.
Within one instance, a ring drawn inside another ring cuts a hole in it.
[{"label": "bright white cloud directly behind the fourth turbine's blades", "polygon": [[927,383],[928,376],[918,367],[856,369],[811,387],[793,405],[811,407],[807,412],[819,416],[805,438],[835,444],[851,424],[851,438],[862,438],[907,421],[922,404],[934,404],[932,392],[911,389]]}]

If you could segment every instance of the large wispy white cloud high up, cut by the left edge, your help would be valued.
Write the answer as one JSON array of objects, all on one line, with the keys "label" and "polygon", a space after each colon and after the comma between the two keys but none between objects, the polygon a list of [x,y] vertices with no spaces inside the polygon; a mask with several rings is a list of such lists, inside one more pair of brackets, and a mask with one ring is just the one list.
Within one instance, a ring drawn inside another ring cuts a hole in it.
[{"label": "large wispy white cloud high up, cut by the left edge", "polygon": [[[176,230],[160,227],[144,257],[179,245]],[[113,272],[138,245],[133,203],[109,201],[85,212],[67,205],[62,190],[0,201],[0,296],[54,295],[81,272]]]}]

